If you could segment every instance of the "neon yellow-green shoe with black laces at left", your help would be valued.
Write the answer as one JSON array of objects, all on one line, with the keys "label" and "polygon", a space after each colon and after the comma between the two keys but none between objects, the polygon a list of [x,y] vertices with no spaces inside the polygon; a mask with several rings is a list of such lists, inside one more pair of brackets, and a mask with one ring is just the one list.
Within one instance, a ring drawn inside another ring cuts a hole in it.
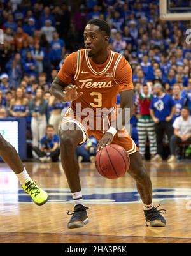
[{"label": "neon yellow-green shoe with black laces at left", "polygon": [[39,188],[35,181],[28,181],[22,188],[25,193],[31,195],[33,202],[38,206],[42,206],[48,200],[48,193]]}]

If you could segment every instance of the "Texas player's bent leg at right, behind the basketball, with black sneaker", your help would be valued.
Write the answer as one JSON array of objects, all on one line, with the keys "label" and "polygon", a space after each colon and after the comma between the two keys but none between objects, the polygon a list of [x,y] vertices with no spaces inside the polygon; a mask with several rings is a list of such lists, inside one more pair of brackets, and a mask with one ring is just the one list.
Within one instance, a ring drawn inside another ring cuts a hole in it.
[{"label": "Texas player's bent leg at right, behind the basketball, with black sneaker", "polygon": [[124,147],[129,154],[130,166],[128,173],[136,181],[136,186],[143,202],[143,210],[146,221],[150,222],[152,227],[164,227],[166,225],[166,220],[160,213],[166,213],[166,211],[157,210],[155,207],[153,207],[152,182],[145,170],[145,167],[143,167],[143,160],[138,151],[138,147],[136,147],[136,144],[125,129],[121,132],[121,135],[123,135],[123,133],[124,135],[121,136],[117,133],[112,143]]}]

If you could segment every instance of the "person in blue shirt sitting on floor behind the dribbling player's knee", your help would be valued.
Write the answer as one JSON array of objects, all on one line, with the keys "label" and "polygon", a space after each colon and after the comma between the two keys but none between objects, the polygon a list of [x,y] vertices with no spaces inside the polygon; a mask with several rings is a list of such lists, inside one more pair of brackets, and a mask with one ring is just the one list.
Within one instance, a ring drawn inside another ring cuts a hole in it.
[{"label": "person in blue shirt sitting on floor behind the dribbling player's knee", "polygon": [[57,162],[59,160],[59,136],[55,135],[52,125],[46,126],[46,135],[41,138],[41,148],[33,147],[39,160],[44,162]]}]

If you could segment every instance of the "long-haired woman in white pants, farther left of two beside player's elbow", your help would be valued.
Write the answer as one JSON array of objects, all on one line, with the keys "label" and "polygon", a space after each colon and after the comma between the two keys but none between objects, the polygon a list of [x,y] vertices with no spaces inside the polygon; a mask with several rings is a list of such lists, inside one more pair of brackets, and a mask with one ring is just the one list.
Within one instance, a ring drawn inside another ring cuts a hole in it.
[{"label": "long-haired woman in white pants, farther left of two beside player's elbow", "polygon": [[36,97],[29,102],[29,111],[32,116],[32,146],[38,147],[39,139],[45,135],[48,116],[48,103],[43,99],[41,88],[36,89]]}]

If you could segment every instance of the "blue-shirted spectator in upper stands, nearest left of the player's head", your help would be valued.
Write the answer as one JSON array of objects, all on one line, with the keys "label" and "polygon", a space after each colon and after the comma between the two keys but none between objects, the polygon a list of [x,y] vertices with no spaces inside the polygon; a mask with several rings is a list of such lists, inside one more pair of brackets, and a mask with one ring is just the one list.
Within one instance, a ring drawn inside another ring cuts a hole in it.
[{"label": "blue-shirted spectator in upper stands, nearest left of the player's head", "polygon": [[64,57],[65,53],[65,42],[59,38],[59,33],[57,31],[53,32],[53,40],[50,43],[50,59],[52,65],[57,68],[59,66],[60,60]]}]

